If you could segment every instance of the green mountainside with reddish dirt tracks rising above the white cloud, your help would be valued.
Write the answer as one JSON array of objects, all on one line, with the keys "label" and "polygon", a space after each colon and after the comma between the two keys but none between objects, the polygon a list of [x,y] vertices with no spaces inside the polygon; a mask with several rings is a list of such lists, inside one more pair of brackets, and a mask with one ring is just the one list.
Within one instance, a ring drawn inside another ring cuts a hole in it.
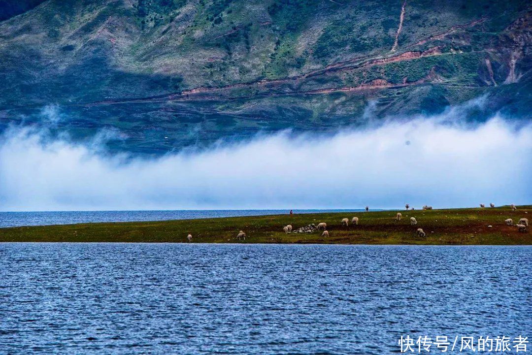
[{"label": "green mountainside with reddish dirt tracks rising above the white cloud", "polygon": [[464,120],[528,120],[531,14],[517,0],[3,0],[0,129],[112,129],[112,149],[163,154],[479,96]]}]

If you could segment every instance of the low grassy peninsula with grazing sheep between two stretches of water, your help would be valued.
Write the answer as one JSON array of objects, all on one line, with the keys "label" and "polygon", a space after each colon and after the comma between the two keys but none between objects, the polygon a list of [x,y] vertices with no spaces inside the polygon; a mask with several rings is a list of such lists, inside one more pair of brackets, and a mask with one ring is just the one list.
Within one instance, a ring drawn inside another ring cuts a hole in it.
[{"label": "low grassy peninsula with grazing sheep between two stretches of water", "polygon": [[[512,218],[529,218],[532,206],[496,208],[462,208],[434,210],[397,210],[356,213],[319,213],[231,218],[186,219],[161,222],[85,223],[70,225],[28,226],[0,229],[0,242],[187,242],[194,243],[320,243],[320,244],[532,244],[529,230],[518,232],[504,223]],[[401,212],[403,218],[395,221]],[[359,225],[345,227],[342,218],[358,216]],[[410,225],[410,217],[418,224]],[[329,238],[321,231],[285,233],[311,223],[327,223]],[[491,227],[490,227],[491,226]],[[417,235],[422,228],[425,238]],[[246,240],[236,238],[239,230]]]}]

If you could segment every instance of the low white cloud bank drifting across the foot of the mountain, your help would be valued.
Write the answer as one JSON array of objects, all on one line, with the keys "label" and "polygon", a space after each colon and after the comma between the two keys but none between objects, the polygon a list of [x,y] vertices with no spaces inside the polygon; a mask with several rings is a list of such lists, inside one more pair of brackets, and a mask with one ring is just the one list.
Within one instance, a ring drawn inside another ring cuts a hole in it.
[{"label": "low white cloud bank drifting across the foot of the mountain", "polygon": [[0,210],[529,204],[532,125],[519,124],[419,118],[329,137],[287,131],[156,159],[10,129],[0,137]]}]

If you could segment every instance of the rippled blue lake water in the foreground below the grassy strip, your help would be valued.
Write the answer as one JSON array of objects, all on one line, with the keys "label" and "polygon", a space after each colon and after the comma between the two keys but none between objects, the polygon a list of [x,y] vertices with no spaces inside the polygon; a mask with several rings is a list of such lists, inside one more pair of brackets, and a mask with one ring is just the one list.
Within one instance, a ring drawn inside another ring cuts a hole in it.
[{"label": "rippled blue lake water in the foreground below the grassy strip", "polygon": [[527,246],[0,243],[0,264],[2,354],[386,354],[401,335],[532,335]]}]

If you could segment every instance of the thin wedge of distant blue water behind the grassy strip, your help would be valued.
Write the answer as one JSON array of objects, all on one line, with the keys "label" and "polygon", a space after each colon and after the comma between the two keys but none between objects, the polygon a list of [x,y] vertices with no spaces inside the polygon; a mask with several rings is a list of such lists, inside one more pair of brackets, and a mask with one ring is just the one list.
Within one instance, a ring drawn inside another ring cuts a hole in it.
[{"label": "thin wedge of distant blue water behind the grassy strip", "polygon": [[[295,214],[361,212],[362,209],[294,209]],[[54,224],[151,222],[172,219],[267,216],[288,214],[289,209],[203,209],[203,210],[108,210],[0,212],[0,228]]]}]

